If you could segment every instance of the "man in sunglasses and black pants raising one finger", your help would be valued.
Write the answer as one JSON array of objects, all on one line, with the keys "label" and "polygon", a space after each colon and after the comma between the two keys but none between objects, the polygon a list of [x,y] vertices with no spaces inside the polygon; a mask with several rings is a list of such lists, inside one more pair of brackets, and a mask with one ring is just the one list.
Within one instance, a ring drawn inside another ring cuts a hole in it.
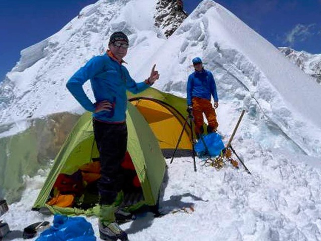
[{"label": "man in sunglasses and black pants raising one finger", "polygon": [[[130,77],[122,65],[128,49],[128,38],[124,33],[113,33],[108,47],[106,54],[93,57],[80,68],[66,87],[83,108],[93,112],[94,135],[100,154],[100,238],[127,240],[127,234],[115,222],[114,214],[123,181],[120,165],[127,150],[126,90],[133,94],[139,93],[151,86],[159,74],[154,65],[145,81],[136,83]],[[82,87],[89,79],[95,103],[90,101]]]}]

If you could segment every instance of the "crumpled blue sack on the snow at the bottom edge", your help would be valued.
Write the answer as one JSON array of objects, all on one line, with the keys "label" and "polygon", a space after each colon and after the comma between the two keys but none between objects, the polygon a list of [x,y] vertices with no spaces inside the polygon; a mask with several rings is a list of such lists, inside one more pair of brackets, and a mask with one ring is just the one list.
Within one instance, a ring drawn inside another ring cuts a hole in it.
[{"label": "crumpled blue sack on the snow at the bottom edge", "polygon": [[55,215],[53,225],[36,241],[96,241],[96,237],[91,223],[84,217]]}]

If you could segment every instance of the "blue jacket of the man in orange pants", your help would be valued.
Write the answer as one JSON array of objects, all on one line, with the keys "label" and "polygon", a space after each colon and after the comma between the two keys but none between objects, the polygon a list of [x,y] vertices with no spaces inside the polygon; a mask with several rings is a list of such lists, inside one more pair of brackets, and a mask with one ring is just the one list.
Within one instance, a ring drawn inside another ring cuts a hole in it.
[{"label": "blue jacket of the man in orange pants", "polygon": [[192,105],[193,97],[211,100],[211,95],[214,101],[219,101],[212,73],[204,69],[192,73],[187,81],[187,105]]}]

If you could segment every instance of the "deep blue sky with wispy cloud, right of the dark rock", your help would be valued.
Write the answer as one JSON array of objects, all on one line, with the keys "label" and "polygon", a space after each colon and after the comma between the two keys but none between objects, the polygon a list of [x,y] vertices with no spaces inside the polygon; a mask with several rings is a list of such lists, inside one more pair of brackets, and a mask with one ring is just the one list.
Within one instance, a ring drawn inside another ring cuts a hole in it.
[{"label": "deep blue sky with wispy cloud, right of the dark rock", "polygon": [[[184,0],[190,12],[201,0]],[[321,54],[321,0],[215,0],[276,47]]]}]

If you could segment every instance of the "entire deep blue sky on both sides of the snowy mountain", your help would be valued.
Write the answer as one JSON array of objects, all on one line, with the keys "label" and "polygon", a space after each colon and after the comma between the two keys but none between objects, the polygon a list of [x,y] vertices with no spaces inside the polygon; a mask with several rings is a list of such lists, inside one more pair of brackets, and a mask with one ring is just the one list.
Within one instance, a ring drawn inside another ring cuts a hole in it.
[{"label": "entire deep blue sky on both sides of the snowy mountain", "polygon": [[[191,13],[201,0],[183,0]],[[20,51],[55,34],[96,0],[0,0],[0,81]],[[321,53],[321,0],[216,0],[274,46]]]}]

